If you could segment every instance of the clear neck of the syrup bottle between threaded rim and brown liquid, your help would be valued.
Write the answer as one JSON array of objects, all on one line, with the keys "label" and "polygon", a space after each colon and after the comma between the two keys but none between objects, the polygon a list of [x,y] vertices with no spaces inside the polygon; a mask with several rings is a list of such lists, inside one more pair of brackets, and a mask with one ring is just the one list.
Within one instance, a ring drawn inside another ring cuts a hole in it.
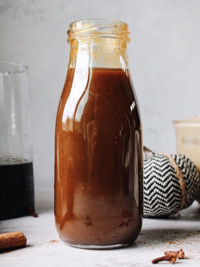
[{"label": "clear neck of the syrup bottle between threaded rim and brown liquid", "polygon": [[127,41],[118,38],[93,38],[70,42],[68,69],[118,68],[128,69]]}]

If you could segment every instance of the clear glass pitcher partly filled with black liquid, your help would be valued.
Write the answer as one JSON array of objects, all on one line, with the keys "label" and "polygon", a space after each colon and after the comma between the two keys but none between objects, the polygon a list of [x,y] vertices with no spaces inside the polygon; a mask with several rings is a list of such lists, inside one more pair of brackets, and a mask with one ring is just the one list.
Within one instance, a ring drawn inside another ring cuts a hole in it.
[{"label": "clear glass pitcher partly filled with black liquid", "polygon": [[0,60],[0,220],[34,210],[28,69]]}]

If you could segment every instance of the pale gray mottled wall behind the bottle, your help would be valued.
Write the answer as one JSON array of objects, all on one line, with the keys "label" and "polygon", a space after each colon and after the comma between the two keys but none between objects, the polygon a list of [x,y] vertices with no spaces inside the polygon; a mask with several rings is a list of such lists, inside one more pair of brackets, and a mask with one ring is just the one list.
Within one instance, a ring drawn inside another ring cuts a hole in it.
[{"label": "pale gray mottled wall behind the bottle", "polygon": [[54,126],[69,55],[69,23],[129,24],[129,62],[144,144],[176,151],[172,120],[200,115],[200,1],[0,0],[0,58],[29,66],[37,206],[53,205]]}]

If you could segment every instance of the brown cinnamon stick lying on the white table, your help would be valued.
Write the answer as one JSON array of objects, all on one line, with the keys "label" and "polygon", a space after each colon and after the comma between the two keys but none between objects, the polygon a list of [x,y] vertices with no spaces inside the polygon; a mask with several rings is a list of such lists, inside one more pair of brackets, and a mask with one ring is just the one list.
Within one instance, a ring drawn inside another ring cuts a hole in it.
[{"label": "brown cinnamon stick lying on the white table", "polygon": [[0,249],[24,247],[26,241],[25,235],[21,232],[0,234]]}]

